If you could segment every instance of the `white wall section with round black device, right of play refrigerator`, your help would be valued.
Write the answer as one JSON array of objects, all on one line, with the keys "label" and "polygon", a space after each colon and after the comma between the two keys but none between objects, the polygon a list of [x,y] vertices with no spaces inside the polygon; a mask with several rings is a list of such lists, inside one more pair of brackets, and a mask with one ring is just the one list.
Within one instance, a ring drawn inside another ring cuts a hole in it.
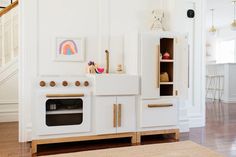
[{"label": "white wall section with round black device, right of play refrigerator", "polygon": [[[169,5],[172,25],[171,29],[176,32],[187,33],[189,37],[189,99],[181,103],[188,113],[181,116],[186,122],[189,120],[190,127],[205,125],[205,1],[182,0],[172,2]],[[195,10],[195,18],[186,17],[188,9]],[[187,125],[187,124],[186,124]]]}]

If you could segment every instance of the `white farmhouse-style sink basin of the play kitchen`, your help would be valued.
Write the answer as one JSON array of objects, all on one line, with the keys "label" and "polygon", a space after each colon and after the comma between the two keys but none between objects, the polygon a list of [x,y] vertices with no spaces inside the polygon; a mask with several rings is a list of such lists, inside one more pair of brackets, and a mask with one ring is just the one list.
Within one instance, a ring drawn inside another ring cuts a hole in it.
[{"label": "white farmhouse-style sink basin of the play kitchen", "polygon": [[127,74],[96,74],[94,95],[138,95],[139,77]]}]

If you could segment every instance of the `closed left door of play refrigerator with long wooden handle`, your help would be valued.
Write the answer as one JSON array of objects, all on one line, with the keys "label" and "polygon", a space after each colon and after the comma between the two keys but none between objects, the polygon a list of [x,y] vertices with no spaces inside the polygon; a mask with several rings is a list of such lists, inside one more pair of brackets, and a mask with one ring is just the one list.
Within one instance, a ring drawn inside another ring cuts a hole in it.
[{"label": "closed left door of play refrigerator with long wooden handle", "polygon": [[141,89],[143,99],[159,98],[158,47],[160,39],[155,34],[141,35]]}]

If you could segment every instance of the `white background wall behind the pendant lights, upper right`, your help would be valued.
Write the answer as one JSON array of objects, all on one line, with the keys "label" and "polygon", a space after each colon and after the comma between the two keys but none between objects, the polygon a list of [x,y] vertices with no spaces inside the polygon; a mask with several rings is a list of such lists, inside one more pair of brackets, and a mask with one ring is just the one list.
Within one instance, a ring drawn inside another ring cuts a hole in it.
[{"label": "white background wall behind the pendant lights, upper right", "polygon": [[[233,22],[234,9],[232,1],[228,0],[206,0],[206,34],[207,34],[207,54],[206,63],[216,62],[217,42],[224,39],[236,38],[236,32],[230,30],[230,25]],[[212,12],[214,9],[214,26],[217,29],[217,36],[209,34],[209,29],[212,26]]]}]

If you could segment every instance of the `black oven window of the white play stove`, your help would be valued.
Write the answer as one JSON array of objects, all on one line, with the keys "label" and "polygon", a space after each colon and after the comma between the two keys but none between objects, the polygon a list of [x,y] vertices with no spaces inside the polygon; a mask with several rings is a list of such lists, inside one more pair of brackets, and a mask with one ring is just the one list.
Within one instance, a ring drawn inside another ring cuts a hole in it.
[{"label": "black oven window of the white play stove", "polygon": [[46,125],[80,125],[83,122],[82,99],[48,99],[46,101]]}]

